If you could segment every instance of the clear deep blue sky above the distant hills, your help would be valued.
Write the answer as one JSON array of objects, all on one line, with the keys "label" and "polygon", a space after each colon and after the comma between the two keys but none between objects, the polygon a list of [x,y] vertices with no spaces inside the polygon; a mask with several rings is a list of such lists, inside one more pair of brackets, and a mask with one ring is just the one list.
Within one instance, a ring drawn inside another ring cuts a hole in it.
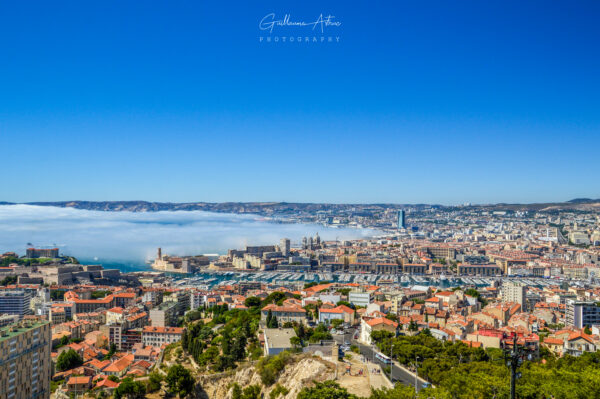
[{"label": "clear deep blue sky above the distant hills", "polygon": [[[340,41],[261,43],[268,13],[334,15]],[[593,1],[1,2],[0,201],[597,198],[599,17]]]}]

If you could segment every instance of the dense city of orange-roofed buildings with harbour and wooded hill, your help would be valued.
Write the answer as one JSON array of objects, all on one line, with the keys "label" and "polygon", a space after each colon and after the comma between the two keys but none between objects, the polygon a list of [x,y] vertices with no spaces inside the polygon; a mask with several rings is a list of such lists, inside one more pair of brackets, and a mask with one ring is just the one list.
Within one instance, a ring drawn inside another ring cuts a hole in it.
[{"label": "dense city of orange-roofed buildings with harbour and wooded hill", "polygon": [[324,211],[382,234],[157,248],[133,273],[15,248],[0,397],[595,397],[600,214],[584,203]]}]

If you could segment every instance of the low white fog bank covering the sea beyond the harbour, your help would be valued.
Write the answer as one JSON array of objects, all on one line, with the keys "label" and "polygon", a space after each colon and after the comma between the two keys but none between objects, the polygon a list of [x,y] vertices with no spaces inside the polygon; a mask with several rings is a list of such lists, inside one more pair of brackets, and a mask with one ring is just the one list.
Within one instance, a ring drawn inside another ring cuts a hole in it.
[{"label": "low white fog bank covering the sea beyond the harbour", "polygon": [[225,253],[245,245],[277,244],[282,237],[299,243],[303,236],[350,239],[374,230],[335,229],[310,224],[277,224],[260,217],[210,213],[101,212],[31,205],[0,206],[0,251],[23,254],[27,243],[58,246],[81,260],[143,265],[163,253],[195,255]]}]

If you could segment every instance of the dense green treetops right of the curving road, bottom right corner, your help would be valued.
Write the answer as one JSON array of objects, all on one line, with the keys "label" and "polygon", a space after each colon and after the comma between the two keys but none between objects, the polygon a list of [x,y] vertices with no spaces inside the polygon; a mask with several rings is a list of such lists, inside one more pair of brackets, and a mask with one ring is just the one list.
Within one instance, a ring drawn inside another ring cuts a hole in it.
[{"label": "dense green treetops right of the curving road, bottom right corner", "polygon": [[[496,348],[471,348],[462,342],[443,342],[424,330],[415,336],[394,337],[374,331],[379,350],[399,363],[418,366],[419,376],[435,388],[424,390],[435,398],[508,398],[510,373],[504,354]],[[600,398],[600,355],[555,358],[542,348],[540,357],[525,361],[517,381],[518,398]],[[390,394],[391,395],[391,394]],[[378,396],[377,398],[403,396]]]}]

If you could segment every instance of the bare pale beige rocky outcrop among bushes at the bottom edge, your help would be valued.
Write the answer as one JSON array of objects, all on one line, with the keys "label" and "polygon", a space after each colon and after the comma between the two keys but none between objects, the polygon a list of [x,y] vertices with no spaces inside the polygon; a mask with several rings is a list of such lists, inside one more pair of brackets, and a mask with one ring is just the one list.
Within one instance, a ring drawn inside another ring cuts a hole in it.
[{"label": "bare pale beige rocky outcrop among bushes at the bottom edge", "polygon": [[279,396],[280,399],[292,399],[313,381],[331,380],[335,377],[335,367],[332,363],[318,357],[299,357],[286,365],[279,374],[277,381],[269,386],[262,385],[260,375],[252,365],[242,366],[234,372],[201,375],[198,377],[198,385],[202,387],[205,397],[210,399],[231,399],[232,386],[238,383],[244,388],[249,385],[259,385],[265,398],[277,384],[289,390],[287,395]]}]

